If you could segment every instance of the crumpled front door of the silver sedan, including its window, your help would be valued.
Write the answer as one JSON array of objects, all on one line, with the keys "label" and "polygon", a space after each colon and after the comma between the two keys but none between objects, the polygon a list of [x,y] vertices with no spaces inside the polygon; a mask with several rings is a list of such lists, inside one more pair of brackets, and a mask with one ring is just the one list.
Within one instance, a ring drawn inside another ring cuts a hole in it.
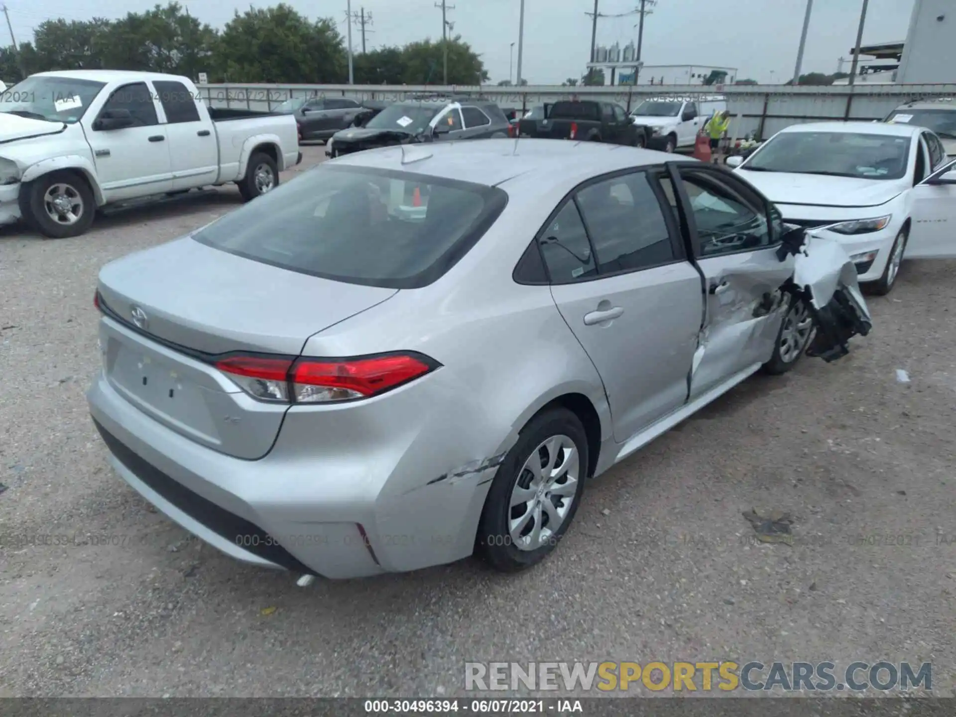
[{"label": "crumpled front door of the silver sedan, including its window", "polygon": [[[728,171],[671,163],[677,200],[704,273],[706,315],[690,381],[693,400],[771,358],[782,320],[780,286],[793,257],[776,255],[782,221],[750,185]],[[669,188],[673,195],[673,185]]]}]

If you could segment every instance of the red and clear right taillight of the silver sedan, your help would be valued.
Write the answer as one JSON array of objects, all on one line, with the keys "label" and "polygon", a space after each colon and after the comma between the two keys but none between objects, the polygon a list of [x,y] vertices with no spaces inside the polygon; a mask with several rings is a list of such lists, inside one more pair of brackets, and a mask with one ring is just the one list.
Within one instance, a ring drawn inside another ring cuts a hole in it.
[{"label": "red and clear right taillight of the silver sedan", "polygon": [[296,403],[366,399],[436,366],[430,359],[405,354],[344,361],[233,356],[215,365],[260,401]]}]

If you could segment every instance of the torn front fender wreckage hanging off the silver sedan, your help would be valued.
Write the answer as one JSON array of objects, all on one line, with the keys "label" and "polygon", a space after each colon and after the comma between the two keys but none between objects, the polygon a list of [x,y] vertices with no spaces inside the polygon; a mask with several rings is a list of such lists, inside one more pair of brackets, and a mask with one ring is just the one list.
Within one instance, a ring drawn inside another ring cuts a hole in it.
[{"label": "torn front fender wreckage hanging off the silver sedan", "polygon": [[836,239],[802,230],[794,231],[781,250],[796,257],[793,291],[808,303],[814,315],[816,335],[807,355],[828,362],[846,356],[850,338],[865,337],[873,328],[850,256]]}]

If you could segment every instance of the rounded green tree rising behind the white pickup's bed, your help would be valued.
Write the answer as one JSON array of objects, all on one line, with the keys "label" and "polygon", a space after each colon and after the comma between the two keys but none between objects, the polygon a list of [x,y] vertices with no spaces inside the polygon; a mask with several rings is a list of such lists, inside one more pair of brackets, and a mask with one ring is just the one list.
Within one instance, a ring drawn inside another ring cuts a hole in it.
[{"label": "rounded green tree rising behind the white pickup's bed", "polygon": [[333,19],[311,22],[280,3],[236,11],[216,44],[213,75],[232,82],[344,82],[348,57]]}]

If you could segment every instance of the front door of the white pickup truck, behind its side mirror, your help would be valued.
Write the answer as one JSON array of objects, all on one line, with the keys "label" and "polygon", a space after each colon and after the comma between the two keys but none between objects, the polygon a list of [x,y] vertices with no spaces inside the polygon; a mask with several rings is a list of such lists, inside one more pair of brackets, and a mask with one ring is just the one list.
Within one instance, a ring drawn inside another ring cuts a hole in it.
[{"label": "front door of the white pickup truck, behind its side mirror", "polygon": [[153,91],[145,82],[132,82],[115,90],[100,114],[127,110],[131,127],[96,129],[95,118],[87,125],[86,140],[93,149],[97,176],[107,202],[171,191],[173,186],[169,141],[160,124]]}]

